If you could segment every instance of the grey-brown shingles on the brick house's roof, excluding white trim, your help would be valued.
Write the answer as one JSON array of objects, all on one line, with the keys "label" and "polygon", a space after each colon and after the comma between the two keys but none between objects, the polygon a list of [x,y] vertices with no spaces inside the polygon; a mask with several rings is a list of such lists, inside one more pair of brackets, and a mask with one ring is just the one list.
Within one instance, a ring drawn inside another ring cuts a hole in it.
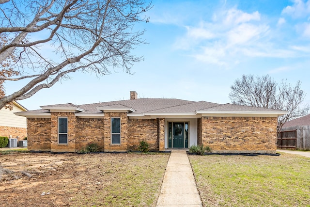
[{"label": "grey-brown shingles on the brick house's roof, excluding white trim", "polygon": [[[120,101],[110,101],[110,102],[101,102],[93,104],[83,104],[83,105],[74,105],[72,103],[66,104],[56,104],[42,107],[43,110],[29,111],[29,113],[48,113],[48,108],[78,108],[83,111],[76,112],[76,114],[87,115],[87,114],[102,114],[103,111],[100,108],[131,108],[135,110],[130,112],[132,115],[139,114],[165,114],[165,113],[174,113],[174,114],[184,114],[184,113],[195,113],[196,111],[255,111],[255,112],[270,112],[283,113],[280,110],[256,108],[242,105],[234,104],[217,104],[206,101],[188,101],[175,98],[138,98],[130,100],[120,100]],[[85,110],[85,111],[84,111]],[[26,114],[26,113],[23,113]]]}]

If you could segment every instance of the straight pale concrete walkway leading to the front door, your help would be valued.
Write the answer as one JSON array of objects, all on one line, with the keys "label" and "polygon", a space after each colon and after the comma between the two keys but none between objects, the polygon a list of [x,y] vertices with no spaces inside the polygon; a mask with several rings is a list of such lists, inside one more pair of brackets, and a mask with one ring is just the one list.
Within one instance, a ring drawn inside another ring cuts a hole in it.
[{"label": "straight pale concrete walkway leading to the front door", "polygon": [[202,207],[185,150],[172,150],[157,207]]}]

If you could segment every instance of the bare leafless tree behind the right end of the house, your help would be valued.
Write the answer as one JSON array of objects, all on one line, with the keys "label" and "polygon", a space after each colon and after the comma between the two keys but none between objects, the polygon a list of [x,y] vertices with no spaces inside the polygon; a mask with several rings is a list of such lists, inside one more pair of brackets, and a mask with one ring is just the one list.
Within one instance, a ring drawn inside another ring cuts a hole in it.
[{"label": "bare leafless tree behind the right end of the house", "polygon": [[233,104],[288,111],[278,118],[279,132],[285,122],[304,116],[309,111],[308,104],[301,106],[306,95],[300,84],[297,81],[292,86],[285,80],[278,84],[269,75],[256,78],[243,75],[241,80],[234,81],[229,97]]}]

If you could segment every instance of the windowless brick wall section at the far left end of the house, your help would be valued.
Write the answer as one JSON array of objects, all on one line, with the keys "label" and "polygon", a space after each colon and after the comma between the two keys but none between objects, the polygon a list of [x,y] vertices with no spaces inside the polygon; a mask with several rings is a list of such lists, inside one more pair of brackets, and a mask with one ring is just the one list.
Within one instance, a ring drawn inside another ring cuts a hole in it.
[{"label": "windowless brick wall section at the far left end of the house", "polygon": [[50,151],[50,118],[27,118],[28,150]]}]

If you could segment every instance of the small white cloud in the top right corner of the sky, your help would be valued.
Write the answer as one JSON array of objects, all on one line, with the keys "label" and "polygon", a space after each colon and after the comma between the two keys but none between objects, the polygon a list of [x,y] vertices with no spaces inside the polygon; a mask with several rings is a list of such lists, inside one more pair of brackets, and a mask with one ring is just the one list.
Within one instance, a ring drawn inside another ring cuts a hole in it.
[{"label": "small white cloud in the top right corner of the sky", "polygon": [[287,6],[282,10],[282,14],[287,14],[293,18],[304,18],[310,15],[310,0],[294,0],[293,6]]}]

